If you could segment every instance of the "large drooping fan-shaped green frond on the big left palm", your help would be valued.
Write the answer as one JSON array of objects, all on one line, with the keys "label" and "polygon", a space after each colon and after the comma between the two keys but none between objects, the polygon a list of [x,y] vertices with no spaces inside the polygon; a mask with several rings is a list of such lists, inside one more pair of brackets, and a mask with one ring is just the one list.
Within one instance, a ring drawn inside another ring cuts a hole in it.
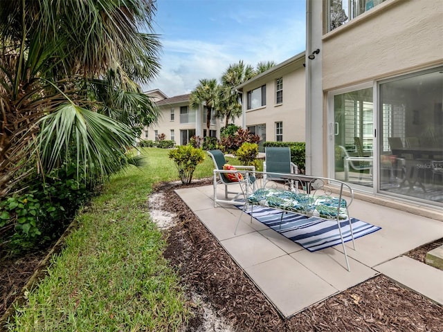
[{"label": "large drooping fan-shaped green frond on the big left palm", "polygon": [[[116,172],[125,164],[125,150],[134,144],[134,132],[106,116],[64,104],[42,118],[38,153],[46,169],[53,169],[75,151],[78,169],[95,178]],[[74,149],[73,149],[74,148]]]}]

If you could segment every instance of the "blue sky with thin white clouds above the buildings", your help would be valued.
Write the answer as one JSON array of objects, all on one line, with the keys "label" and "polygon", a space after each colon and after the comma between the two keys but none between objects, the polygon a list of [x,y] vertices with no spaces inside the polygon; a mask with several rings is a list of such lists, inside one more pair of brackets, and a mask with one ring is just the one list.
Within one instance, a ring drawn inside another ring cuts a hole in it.
[{"label": "blue sky with thin white clouds above the buildings", "polygon": [[280,64],[305,50],[306,0],[157,0],[161,71],[142,86],[173,97],[243,60]]}]

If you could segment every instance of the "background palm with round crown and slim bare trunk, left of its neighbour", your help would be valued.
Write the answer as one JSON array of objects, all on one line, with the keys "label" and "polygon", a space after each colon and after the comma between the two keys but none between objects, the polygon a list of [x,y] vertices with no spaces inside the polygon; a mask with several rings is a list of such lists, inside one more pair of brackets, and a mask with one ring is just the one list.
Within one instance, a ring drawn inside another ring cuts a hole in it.
[{"label": "background palm with round crown and slim bare trunk, left of its neighbour", "polygon": [[189,98],[190,106],[193,109],[199,109],[201,104],[206,106],[206,136],[209,136],[210,114],[217,107],[218,98],[219,84],[215,78],[200,80]]}]

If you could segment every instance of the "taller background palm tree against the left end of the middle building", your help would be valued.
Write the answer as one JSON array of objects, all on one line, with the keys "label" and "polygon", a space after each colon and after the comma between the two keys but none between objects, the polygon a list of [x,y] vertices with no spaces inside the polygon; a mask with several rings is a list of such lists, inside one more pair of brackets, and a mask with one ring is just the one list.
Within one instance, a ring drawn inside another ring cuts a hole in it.
[{"label": "taller background palm tree against the left end of the middle building", "polygon": [[220,102],[217,108],[217,116],[225,118],[225,127],[228,127],[229,119],[234,119],[242,113],[242,95],[235,91],[235,86],[255,76],[254,68],[244,64],[242,60],[238,64],[230,64],[221,76]]}]

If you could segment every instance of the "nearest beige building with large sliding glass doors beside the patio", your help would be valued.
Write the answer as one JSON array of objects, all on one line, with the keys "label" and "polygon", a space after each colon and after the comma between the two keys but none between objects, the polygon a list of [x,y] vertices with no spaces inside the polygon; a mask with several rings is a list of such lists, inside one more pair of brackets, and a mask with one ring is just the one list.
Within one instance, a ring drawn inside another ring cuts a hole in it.
[{"label": "nearest beige building with large sliding glass doors beside the patio", "polygon": [[443,1],[307,0],[306,53],[307,173],[443,208]]}]

